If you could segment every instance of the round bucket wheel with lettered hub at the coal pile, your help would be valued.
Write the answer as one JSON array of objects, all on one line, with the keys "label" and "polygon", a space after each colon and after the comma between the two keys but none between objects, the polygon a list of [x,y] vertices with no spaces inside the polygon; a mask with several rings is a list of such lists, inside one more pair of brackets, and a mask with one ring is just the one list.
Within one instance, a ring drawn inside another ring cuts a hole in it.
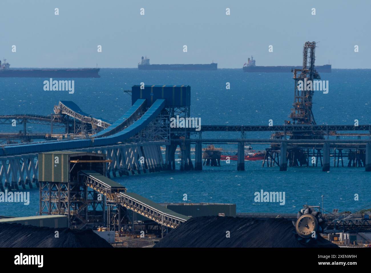
[{"label": "round bucket wheel with lettered hub at the coal pile", "polygon": [[296,216],[297,220],[292,221],[292,224],[295,226],[293,233],[296,240],[303,244],[310,244],[316,241],[318,233],[322,233],[324,230],[325,221],[321,217],[322,215],[311,207],[299,211]]}]

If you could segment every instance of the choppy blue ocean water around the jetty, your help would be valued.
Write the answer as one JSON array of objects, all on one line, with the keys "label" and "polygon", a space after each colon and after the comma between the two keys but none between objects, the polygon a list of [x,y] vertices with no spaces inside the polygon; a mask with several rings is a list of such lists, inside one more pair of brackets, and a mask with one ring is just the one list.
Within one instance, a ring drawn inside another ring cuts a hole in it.
[{"label": "choppy blue ocean water around the jetty", "polygon": [[[44,91],[39,78],[0,78],[0,114],[29,113],[47,115],[59,100],[71,100],[94,117],[115,121],[131,106],[131,97],[123,90],[144,82],[191,86],[191,116],[202,124],[283,124],[293,103],[293,79],[290,73],[243,73],[242,69],[218,71],[138,71],[138,69],[101,69],[101,78],[75,79],[75,93]],[[370,124],[371,69],[333,69],[322,73],[329,81],[329,92],[315,92],[313,113],[317,124]],[[230,82],[230,90],[226,90]],[[0,125],[0,131],[23,128]],[[28,124],[27,130],[48,128]],[[57,131],[55,128],[54,131]],[[267,138],[270,133],[247,133],[246,138]],[[240,137],[238,133],[203,133],[203,138]],[[236,150],[233,146],[222,146]],[[256,150],[265,146],[256,145]],[[347,164],[347,160],[345,161]],[[371,202],[370,173],[362,168],[321,167],[262,168],[262,162],[245,162],[246,170],[237,172],[236,162],[221,162],[220,167],[204,166],[202,172],[166,171],[147,175],[113,178],[155,202],[234,203],[237,212],[296,212],[303,204],[318,205],[324,195],[324,208],[353,210]],[[254,193],[285,192],[285,205],[254,202]],[[39,191],[30,191],[30,205],[1,203],[0,215],[36,215]],[[354,195],[359,195],[359,201]]]}]

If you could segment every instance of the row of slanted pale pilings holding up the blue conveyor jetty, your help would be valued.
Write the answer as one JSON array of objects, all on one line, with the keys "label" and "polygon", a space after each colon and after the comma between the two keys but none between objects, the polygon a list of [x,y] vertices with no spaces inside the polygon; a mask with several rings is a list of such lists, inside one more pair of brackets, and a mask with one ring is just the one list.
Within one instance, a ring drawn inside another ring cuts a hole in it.
[{"label": "row of slanted pale pilings holding up the blue conveyor jetty", "polygon": [[[161,171],[164,169],[164,159],[160,146],[167,142],[139,142],[118,144],[114,146],[77,149],[76,151],[105,154],[108,163],[107,174],[115,177],[129,174]],[[38,183],[38,154],[0,157],[0,190],[4,187],[25,189],[26,185],[33,188]],[[4,182],[4,184],[3,184]]]}]

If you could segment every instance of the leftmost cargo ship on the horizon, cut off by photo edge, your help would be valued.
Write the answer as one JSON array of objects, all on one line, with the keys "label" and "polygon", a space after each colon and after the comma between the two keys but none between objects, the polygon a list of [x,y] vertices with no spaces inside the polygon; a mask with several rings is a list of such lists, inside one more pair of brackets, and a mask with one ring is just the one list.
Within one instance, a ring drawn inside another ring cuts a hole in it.
[{"label": "leftmost cargo ship on the horizon, cut off by photo edge", "polygon": [[81,69],[9,69],[10,64],[4,59],[0,61],[0,77],[2,78],[100,78],[100,68]]}]

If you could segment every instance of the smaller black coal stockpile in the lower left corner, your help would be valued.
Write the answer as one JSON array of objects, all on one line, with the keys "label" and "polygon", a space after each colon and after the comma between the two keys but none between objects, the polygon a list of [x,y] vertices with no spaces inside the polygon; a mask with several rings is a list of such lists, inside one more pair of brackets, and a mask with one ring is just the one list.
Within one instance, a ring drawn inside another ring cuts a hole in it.
[{"label": "smaller black coal stockpile in the lower left corner", "polygon": [[[55,231],[59,238],[55,238]],[[112,247],[92,230],[0,224],[1,247]]]}]

